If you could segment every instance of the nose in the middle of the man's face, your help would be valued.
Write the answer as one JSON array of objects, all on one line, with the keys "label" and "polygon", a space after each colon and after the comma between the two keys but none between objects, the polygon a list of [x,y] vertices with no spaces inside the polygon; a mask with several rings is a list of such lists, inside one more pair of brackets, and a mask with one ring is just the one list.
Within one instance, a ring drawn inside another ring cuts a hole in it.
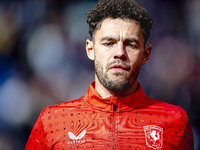
[{"label": "nose in the middle of the man's face", "polygon": [[126,60],[127,59],[127,53],[126,49],[123,43],[118,43],[116,49],[114,50],[114,59],[121,59]]}]

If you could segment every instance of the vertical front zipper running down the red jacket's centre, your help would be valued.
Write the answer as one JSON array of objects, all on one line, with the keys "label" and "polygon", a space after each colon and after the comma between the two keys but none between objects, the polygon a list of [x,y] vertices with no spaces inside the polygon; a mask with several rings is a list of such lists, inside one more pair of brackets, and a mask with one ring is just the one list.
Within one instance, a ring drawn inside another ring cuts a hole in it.
[{"label": "vertical front zipper running down the red jacket's centre", "polygon": [[117,99],[113,99],[113,123],[112,123],[112,150],[117,149],[117,126],[116,126],[116,121],[117,121]]}]

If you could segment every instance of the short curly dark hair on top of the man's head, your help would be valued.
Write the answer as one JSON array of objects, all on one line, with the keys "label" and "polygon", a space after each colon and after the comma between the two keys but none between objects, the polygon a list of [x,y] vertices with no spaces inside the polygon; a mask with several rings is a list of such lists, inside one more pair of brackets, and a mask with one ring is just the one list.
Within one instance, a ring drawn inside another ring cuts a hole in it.
[{"label": "short curly dark hair on top of the man's head", "polygon": [[121,18],[136,20],[140,23],[142,34],[147,42],[153,25],[153,19],[140,4],[133,0],[102,0],[99,1],[87,14],[89,34],[93,39],[96,30],[106,18]]}]

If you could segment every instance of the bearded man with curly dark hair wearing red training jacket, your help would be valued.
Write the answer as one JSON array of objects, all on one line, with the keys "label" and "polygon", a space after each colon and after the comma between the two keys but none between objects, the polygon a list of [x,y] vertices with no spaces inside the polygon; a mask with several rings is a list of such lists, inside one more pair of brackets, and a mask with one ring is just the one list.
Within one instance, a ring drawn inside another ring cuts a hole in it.
[{"label": "bearded man with curly dark hair wearing red training jacket", "polygon": [[153,20],[132,0],[103,0],[87,14],[95,81],[85,96],[45,108],[26,150],[193,149],[186,112],[147,97],[138,83]]}]

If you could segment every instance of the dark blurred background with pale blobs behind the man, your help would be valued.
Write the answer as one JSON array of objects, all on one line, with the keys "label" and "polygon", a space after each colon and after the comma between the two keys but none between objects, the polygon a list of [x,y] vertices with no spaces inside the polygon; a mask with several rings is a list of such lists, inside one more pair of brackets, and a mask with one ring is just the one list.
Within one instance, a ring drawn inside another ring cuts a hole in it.
[{"label": "dark blurred background with pale blobs behind the man", "polygon": [[[96,0],[0,1],[0,150],[22,150],[40,111],[78,98],[94,80],[85,14]],[[188,113],[200,150],[200,1],[138,0],[154,18],[148,96]]]}]

